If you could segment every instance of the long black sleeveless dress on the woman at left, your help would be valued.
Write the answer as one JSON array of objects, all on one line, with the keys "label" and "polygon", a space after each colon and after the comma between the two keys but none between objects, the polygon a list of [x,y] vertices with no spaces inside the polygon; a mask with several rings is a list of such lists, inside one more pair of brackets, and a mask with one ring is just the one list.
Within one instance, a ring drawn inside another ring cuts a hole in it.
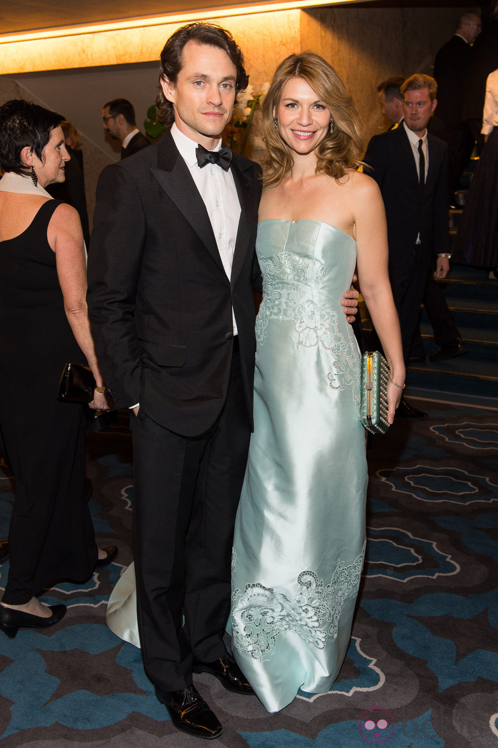
[{"label": "long black sleeveless dress on the woman at left", "polygon": [[56,580],[87,579],[97,558],[82,406],[57,400],[64,364],[85,363],[47,241],[60,204],[47,200],[22,234],[0,242],[0,441],[16,484],[3,601],[12,605]]}]

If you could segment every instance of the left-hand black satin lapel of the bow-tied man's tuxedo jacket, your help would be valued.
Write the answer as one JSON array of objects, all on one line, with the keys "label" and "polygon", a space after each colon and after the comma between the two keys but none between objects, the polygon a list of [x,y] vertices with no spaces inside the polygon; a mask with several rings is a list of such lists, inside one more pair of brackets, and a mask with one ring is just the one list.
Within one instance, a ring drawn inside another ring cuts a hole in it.
[{"label": "left-hand black satin lapel of the bow-tied man's tuxedo jacket", "polygon": [[158,167],[153,167],[150,171],[185,216],[226,278],[206,206],[169,132],[160,143]]}]

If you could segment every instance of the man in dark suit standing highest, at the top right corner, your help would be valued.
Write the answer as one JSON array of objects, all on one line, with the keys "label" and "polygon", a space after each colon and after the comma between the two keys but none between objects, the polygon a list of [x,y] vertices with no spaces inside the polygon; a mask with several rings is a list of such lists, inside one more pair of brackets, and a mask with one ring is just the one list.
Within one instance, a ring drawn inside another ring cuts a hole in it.
[{"label": "man in dark suit standing highest, at the top right corner", "polygon": [[437,116],[446,127],[449,147],[451,188],[460,186],[474,138],[467,123],[461,121],[462,91],[472,55],[472,44],[481,31],[481,16],[467,10],[458,18],[454,36],[443,44],[434,60],[434,78],[437,82]]}]

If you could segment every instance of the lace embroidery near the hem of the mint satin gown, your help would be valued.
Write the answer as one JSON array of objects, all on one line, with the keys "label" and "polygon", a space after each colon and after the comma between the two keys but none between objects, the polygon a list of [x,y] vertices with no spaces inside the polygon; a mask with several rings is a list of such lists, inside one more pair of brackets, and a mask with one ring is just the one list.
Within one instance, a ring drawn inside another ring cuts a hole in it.
[{"label": "lace embroidery near the hem of the mint satin gown", "polygon": [[[244,592],[232,593],[232,636],[236,649],[247,652],[255,660],[268,660],[274,651],[277,637],[294,631],[301,639],[317,649],[325,649],[328,637],[337,637],[337,628],[345,598],[356,598],[360,586],[366,541],[361,553],[350,566],[339,561],[331,583],[324,585],[314,571],[301,571],[297,592],[289,599],[282,592],[259,583],[247,584]],[[232,573],[236,571],[236,552],[233,550]],[[323,622],[329,622],[325,628]]]}]

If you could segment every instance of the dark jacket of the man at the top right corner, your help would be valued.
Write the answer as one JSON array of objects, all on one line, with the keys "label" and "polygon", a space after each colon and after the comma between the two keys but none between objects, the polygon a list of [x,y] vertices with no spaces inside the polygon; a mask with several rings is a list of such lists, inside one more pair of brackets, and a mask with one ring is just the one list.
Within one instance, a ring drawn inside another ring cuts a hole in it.
[{"label": "dark jacket of the man at the top right corner", "polygon": [[434,78],[437,81],[437,116],[446,126],[459,127],[464,85],[472,47],[455,34],[437,52]]}]

